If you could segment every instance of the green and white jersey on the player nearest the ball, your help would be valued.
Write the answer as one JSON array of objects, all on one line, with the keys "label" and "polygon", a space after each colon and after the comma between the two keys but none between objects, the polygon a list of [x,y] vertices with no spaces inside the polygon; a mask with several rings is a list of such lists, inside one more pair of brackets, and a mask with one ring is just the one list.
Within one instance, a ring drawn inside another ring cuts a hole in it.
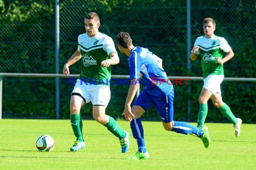
[{"label": "green and white jersey on the player nearest the ball", "polygon": [[111,69],[102,67],[101,62],[110,59],[111,52],[117,53],[112,38],[103,33],[94,37],[81,34],[78,36],[78,51],[81,52],[82,72],[79,79],[90,84],[109,85]]}]

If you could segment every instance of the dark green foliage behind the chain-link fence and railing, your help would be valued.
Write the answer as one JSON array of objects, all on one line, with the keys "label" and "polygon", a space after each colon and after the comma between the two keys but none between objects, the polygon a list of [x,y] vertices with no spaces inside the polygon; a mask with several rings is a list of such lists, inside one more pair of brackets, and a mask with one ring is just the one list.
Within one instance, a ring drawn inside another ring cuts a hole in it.
[{"label": "dark green foliage behind the chain-link fence and railing", "polygon": [[[256,77],[256,0],[191,0],[191,48],[203,35],[203,18],[216,20],[216,35],[225,37],[235,56],[225,67],[226,77]],[[55,73],[54,0],[0,0],[0,72]],[[114,37],[119,31],[131,34],[135,46],[147,47],[163,59],[168,76],[202,76],[199,59],[187,68],[187,26],[185,0],[60,0],[60,67],[77,47],[77,37],[85,32],[84,15],[96,11],[101,17],[100,31]],[[128,75],[127,56],[119,54],[120,64],[113,75]],[[79,74],[80,63],[71,66]],[[223,100],[234,115],[246,123],[256,122],[255,82],[223,82]],[[203,81],[190,86],[176,85],[175,119],[196,121],[198,96]],[[54,118],[55,79],[5,77],[3,117]],[[188,92],[190,87],[191,92]],[[143,87],[141,87],[143,88]],[[60,79],[61,118],[69,118],[73,86]],[[128,85],[112,85],[107,114],[120,118]],[[190,99],[191,106],[188,106]],[[190,107],[190,115],[187,115]],[[209,101],[207,121],[226,122]],[[91,104],[82,110],[91,119]],[[159,120],[154,108],[143,116]]]}]

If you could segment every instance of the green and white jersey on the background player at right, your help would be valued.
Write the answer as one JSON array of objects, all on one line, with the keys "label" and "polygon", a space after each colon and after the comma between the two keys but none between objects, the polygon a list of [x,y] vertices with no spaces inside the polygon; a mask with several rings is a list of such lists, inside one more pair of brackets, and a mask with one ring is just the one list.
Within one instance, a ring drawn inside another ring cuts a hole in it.
[{"label": "green and white jersey on the background player at right", "polygon": [[231,50],[226,39],[216,35],[213,35],[211,38],[205,38],[203,35],[196,38],[194,47],[195,46],[199,46],[199,51],[196,54],[201,58],[203,78],[207,77],[209,74],[224,75],[223,64],[218,64],[216,58],[220,57],[222,59],[224,53]]}]

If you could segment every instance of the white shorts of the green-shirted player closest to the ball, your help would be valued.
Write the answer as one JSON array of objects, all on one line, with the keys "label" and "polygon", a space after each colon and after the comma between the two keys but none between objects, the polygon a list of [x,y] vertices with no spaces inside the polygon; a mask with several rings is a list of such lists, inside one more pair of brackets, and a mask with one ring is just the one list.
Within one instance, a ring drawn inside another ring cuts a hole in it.
[{"label": "white shorts of the green-shirted player closest to the ball", "polygon": [[71,95],[79,95],[86,103],[92,102],[93,105],[107,106],[110,101],[110,87],[107,85],[86,85],[77,79]]}]

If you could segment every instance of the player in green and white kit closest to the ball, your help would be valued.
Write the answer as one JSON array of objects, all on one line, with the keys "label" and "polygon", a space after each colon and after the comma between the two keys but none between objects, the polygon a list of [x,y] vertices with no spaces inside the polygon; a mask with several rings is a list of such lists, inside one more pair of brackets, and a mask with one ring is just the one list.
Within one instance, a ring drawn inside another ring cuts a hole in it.
[{"label": "player in green and white kit closest to the ball", "polygon": [[123,131],[115,119],[105,113],[110,101],[110,65],[118,64],[119,56],[112,38],[99,32],[100,18],[97,13],[88,13],[84,26],[86,33],[78,36],[78,49],[63,68],[63,74],[69,75],[69,67],[81,59],[82,71],[70,101],[71,126],[76,136],[70,150],[78,151],[85,147],[80,109],[84,103],[92,102],[93,119],[119,138],[122,153],[126,153],[129,148],[128,132]]}]

